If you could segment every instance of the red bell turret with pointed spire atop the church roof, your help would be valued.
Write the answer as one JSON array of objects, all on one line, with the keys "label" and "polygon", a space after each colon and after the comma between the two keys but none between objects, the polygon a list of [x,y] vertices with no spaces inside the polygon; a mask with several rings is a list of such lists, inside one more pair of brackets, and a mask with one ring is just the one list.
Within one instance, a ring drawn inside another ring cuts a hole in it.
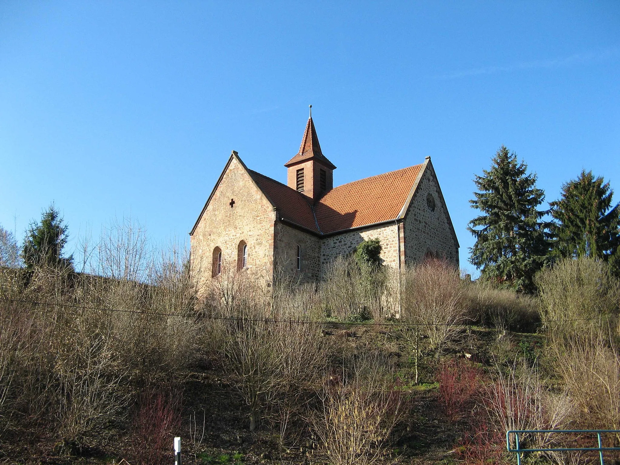
[{"label": "red bell turret with pointed spire atop the church roof", "polygon": [[288,187],[303,193],[312,200],[318,200],[334,188],[336,167],[322,153],[319,138],[312,121],[312,105],[306,130],[301,139],[299,152],[285,164],[288,168]]}]

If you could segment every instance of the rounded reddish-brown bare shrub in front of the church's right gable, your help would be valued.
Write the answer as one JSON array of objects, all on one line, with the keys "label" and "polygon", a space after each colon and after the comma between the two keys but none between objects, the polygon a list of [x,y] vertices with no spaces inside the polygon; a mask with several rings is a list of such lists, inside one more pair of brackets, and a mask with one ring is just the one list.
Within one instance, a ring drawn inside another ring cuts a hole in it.
[{"label": "rounded reddish-brown bare shrub in front of the church's right gable", "polygon": [[429,260],[401,273],[401,319],[428,336],[429,348],[439,354],[466,321],[463,285],[448,262]]}]

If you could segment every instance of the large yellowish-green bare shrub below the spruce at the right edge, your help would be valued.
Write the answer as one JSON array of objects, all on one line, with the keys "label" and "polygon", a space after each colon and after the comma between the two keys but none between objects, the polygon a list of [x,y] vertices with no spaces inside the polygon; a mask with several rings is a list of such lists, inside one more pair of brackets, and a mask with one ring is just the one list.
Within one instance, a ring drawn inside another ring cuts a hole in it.
[{"label": "large yellowish-green bare shrub below the spruce at the right edge", "polygon": [[620,299],[618,280],[608,265],[588,257],[563,259],[536,275],[542,321],[552,333],[599,327],[615,314]]}]

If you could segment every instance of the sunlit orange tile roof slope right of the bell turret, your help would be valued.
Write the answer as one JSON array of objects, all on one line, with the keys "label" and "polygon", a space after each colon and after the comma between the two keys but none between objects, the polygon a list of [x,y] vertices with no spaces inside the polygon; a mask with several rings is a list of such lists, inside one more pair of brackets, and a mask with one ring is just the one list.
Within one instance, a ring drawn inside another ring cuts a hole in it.
[{"label": "sunlit orange tile roof slope right of the bell turret", "polygon": [[421,168],[410,166],[333,188],[314,206],[321,232],[396,219]]}]

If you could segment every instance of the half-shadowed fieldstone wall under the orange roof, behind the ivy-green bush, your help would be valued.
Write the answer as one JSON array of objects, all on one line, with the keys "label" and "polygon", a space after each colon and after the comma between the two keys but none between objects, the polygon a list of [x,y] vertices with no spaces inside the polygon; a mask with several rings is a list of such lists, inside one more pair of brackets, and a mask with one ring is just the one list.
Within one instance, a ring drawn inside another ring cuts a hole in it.
[{"label": "half-shadowed fieldstone wall under the orange roof, behind the ivy-green bush", "polygon": [[325,268],[339,255],[352,252],[360,242],[377,238],[381,241],[381,259],[384,265],[397,269],[399,267],[398,229],[396,223],[384,223],[322,239],[321,272],[324,273]]}]

